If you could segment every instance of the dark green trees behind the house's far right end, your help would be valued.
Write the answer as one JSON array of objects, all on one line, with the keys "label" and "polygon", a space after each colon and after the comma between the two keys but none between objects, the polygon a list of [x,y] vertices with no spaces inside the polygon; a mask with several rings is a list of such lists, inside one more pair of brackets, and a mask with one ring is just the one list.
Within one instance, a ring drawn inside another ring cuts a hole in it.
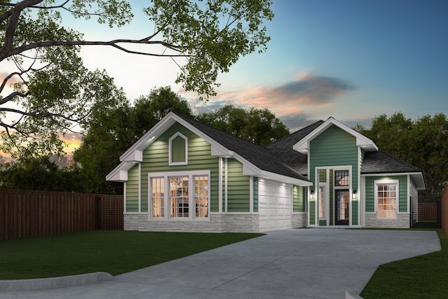
[{"label": "dark green trees behind the house's far right end", "polygon": [[443,113],[417,120],[402,113],[385,114],[372,120],[369,129],[355,128],[384,151],[423,170],[424,195],[440,195],[448,182],[448,119]]}]

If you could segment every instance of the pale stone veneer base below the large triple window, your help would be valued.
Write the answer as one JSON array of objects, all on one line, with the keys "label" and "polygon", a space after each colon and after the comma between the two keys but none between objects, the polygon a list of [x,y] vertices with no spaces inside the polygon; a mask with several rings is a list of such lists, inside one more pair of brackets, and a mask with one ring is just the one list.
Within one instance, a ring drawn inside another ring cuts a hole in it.
[{"label": "pale stone veneer base below the large triple window", "polygon": [[258,214],[211,214],[207,221],[148,221],[148,214],[125,214],[125,230],[142,232],[258,232]]}]

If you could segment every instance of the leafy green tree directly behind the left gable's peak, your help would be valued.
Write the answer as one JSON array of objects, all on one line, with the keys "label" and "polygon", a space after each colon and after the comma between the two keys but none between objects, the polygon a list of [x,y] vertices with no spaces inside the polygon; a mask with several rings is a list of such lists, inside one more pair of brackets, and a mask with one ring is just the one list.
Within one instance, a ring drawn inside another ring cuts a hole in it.
[{"label": "leafy green tree directly behind the left gable's peak", "polygon": [[111,106],[92,109],[83,127],[83,143],[73,155],[84,177],[85,192],[119,193],[123,184],[106,181],[106,175],[120,163],[120,155],[169,111],[193,115],[188,102],[170,87],[151,90],[134,106],[123,98]]}]

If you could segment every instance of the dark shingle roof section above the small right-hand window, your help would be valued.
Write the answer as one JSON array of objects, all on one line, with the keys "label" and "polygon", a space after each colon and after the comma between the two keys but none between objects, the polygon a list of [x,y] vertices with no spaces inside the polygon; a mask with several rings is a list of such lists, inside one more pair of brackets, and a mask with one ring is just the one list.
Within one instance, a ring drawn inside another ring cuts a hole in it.
[{"label": "dark shingle roof section above the small right-hand window", "polygon": [[421,172],[421,169],[385,151],[379,150],[365,153],[361,174],[402,172]]}]

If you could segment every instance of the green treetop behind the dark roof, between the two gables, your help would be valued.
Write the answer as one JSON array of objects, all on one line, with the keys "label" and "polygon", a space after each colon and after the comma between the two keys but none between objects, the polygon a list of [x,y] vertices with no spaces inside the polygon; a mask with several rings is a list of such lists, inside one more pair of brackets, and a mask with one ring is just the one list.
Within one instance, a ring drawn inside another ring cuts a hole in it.
[{"label": "green treetop behind the dark roof, between the two gables", "polygon": [[201,113],[197,120],[260,145],[272,144],[289,134],[286,125],[269,109],[242,109],[226,105],[216,111]]}]

